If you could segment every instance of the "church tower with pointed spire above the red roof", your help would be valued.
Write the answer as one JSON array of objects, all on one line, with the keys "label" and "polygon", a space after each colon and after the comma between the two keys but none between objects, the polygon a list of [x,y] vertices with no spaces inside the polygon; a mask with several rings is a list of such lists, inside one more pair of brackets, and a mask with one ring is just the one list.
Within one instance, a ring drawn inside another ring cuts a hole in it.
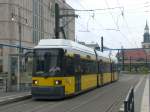
[{"label": "church tower with pointed spire above the red roof", "polygon": [[143,42],[142,42],[142,48],[149,48],[145,49],[147,53],[150,53],[150,34],[149,34],[149,27],[148,23],[146,21],[146,26],[144,28],[144,35],[143,35]]}]

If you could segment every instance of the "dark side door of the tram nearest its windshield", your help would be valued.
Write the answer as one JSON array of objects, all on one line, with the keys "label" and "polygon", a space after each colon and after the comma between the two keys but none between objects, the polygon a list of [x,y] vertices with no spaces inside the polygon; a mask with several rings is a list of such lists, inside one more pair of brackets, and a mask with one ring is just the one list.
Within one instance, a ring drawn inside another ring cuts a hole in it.
[{"label": "dark side door of the tram nearest its windshield", "polygon": [[80,66],[80,55],[75,54],[74,58],[75,67],[75,92],[81,90],[81,66]]}]

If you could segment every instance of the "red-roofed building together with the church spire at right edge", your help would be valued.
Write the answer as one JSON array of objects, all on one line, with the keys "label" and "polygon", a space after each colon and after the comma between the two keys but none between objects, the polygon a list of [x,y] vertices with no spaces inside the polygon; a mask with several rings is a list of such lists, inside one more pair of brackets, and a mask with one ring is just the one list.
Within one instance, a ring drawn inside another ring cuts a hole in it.
[{"label": "red-roofed building together with the church spire at right edge", "polygon": [[149,26],[146,21],[144,28],[142,48],[133,50],[124,50],[117,54],[118,64],[123,71],[150,71],[150,34]]}]

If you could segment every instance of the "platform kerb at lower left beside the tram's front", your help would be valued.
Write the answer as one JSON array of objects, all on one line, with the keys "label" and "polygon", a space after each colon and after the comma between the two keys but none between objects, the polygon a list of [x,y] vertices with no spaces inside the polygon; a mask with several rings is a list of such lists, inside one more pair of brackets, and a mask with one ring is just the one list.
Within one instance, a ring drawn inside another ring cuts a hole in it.
[{"label": "platform kerb at lower left beside the tram's front", "polygon": [[13,97],[0,97],[0,105],[5,105],[5,104],[9,104],[12,102],[19,102],[25,99],[29,99],[31,98],[31,94],[26,94],[26,95],[16,95]]}]

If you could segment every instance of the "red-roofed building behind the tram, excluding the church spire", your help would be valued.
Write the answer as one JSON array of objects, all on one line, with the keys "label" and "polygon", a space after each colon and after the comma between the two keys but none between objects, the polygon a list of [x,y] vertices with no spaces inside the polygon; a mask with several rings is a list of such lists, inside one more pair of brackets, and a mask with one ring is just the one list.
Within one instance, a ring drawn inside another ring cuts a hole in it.
[{"label": "red-roofed building behind the tram, excluding the church spire", "polygon": [[144,49],[122,50],[117,54],[120,69],[138,71],[150,68],[150,53]]}]

